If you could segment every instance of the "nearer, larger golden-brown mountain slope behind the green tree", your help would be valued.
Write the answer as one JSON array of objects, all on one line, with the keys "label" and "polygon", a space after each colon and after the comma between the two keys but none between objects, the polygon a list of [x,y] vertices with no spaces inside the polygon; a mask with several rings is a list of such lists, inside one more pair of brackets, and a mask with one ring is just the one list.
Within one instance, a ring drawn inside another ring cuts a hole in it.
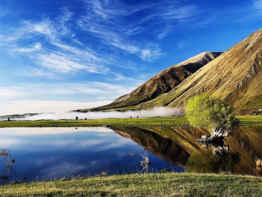
[{"label": "nearer, larger golden-brown mountain slope behind the green tree", "polygon": [[262,29],[254,32],[221,56],[184,80],[170,92],[137,106],[180,107],[189,97],[210,93],[239,114],[262,108]]}]

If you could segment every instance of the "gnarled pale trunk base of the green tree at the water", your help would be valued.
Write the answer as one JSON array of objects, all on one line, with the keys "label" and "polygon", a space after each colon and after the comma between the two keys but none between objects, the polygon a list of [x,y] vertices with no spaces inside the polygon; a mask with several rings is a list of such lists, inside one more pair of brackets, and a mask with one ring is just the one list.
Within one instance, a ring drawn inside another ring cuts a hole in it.
[{"label": "gnarled pale trunk base of the green tree at the water", "polygon": [[225,128],[212,128],[210,135],[202,135],[202,138],[197,140],[202,143],[217,143],[222,142],[224,137],[228,137],[230,131]]}]

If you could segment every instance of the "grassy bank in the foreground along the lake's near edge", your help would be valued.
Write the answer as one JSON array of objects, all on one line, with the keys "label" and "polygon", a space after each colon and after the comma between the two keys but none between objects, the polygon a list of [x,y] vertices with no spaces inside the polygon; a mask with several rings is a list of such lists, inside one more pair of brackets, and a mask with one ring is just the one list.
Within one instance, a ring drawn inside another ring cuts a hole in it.
[{"label": "grassy bank in the foreground along the lake's near edge", "polygon": [[1,196],[259,196],[262,178],[225,174],[113,175],[0,186]]}]

